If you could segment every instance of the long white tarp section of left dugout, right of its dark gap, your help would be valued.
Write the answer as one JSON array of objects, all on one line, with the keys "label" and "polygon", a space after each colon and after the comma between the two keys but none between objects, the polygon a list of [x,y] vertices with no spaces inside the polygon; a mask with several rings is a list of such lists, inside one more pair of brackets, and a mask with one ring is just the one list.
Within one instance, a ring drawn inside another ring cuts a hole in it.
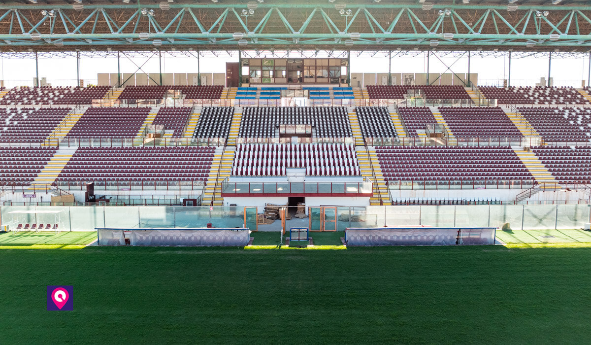
[{"label": "long white tarp section of left dugout, right of its dark gap", "polygon": [[[128,230],[130,231],[130,230]],[[132,246],[246,246],[248,229],[131,230]]]}]

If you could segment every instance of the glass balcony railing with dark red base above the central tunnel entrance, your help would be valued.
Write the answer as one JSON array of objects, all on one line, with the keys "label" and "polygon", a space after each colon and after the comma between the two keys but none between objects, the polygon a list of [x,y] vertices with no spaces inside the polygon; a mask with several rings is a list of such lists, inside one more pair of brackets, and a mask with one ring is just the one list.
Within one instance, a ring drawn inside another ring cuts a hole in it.
[{"label": "glass balcony railing with dark red base above the central tunnel entrance", "polygon": [[372,181],[363,182],[230,182],[222,181],[223,196],[368,196]]}]

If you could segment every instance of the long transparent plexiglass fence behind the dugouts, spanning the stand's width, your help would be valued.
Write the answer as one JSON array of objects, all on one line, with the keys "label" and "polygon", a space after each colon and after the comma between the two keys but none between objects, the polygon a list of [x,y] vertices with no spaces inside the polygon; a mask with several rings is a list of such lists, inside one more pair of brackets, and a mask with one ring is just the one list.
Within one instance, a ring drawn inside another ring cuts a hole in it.
[{"label": "long transparent plexiglass fence behind the dugouts, spanning the stand's width", "polygon": [[[336,217],[322,217],[330,208]],[[287,220],[290,227],[309,226],[311,231],[344,231],[347,227],[499,227],[511,230],[576,229],[589,222],[589,205],[446,205],[446,206],[367,206],[306,208],[306,217]],[[256,210],[256,211],[255,211]],[[310,212],[310,210],[312,212]],[[336,211],[334,211],[336,210]],[[61,231],[92,231],[97,227],[128,228],[216,228],[242,227],[243,207],[22,207],[1,208],[2,224],[9,230],[21,224],[57,224]],[[246,226],[256,230],[256,214],[264,207],[248,208]],[[311,215],[310,215],[311,213]],[[330,219],[329,219],[330,218]],[[324,224],[323,224],[324,221]],[[328,223],[327,223],[328,222]],[[264,229],[266,228],[266,229]],[[280,231],[274,220],[258,230]]]}]

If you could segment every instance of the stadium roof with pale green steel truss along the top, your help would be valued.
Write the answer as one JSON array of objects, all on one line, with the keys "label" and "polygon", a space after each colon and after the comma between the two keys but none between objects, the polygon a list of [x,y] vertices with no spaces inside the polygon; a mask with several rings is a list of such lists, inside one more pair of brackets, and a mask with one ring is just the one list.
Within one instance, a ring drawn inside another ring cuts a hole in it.
[{"label": "stadium roof with pale green steel truss along the top", "polygon": [[169,1],[0,1],[0,51],[591,50],[583,0]]}]

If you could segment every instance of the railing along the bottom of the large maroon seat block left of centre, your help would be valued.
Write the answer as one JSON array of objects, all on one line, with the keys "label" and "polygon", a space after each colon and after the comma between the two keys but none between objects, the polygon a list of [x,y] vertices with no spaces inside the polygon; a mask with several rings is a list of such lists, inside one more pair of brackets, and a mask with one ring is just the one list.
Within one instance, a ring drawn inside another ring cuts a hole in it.
[{"label": "railing along the bottom of the large maroon seat block left of centre", "polygon": [[67,191],[86,191],[86,183],[94,182],[95,191],[202,191],[204,181],[182,180],[77,180],[59,181],[56,186]]}]

